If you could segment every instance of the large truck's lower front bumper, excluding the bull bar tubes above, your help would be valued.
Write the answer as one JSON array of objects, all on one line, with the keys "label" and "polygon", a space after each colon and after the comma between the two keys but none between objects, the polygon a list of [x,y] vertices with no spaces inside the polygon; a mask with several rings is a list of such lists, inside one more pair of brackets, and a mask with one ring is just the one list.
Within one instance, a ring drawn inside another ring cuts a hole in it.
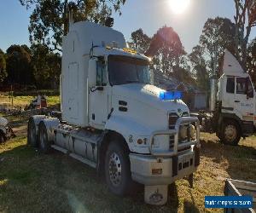
[{"label": "large truck's lower front bumper, excluding the bull bar tubes above", "polygon": [[192,149],[172,158],[155,158],[140,154],[130,154],[131,177],[147,186],[168,185],[173,181],[189,176],[197,169],[200,158]]}]

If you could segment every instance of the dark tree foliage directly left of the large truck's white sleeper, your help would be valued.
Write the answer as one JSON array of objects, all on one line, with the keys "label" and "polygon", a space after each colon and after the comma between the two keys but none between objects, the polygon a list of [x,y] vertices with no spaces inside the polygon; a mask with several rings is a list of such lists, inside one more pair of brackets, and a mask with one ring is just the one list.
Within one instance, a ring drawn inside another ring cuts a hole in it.
[{"label": "dark tree foliage directly left of the large truck's white sleeper", "polygon": [[61,74],[61,55],[43,44],[32,44],[32,67],[38,88],[56,88]]}]

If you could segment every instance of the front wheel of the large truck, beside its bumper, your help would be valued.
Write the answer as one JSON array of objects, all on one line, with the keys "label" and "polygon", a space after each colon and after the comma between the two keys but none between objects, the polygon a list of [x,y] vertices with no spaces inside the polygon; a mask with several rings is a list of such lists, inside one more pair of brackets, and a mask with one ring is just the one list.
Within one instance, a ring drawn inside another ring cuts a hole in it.
[{"label": "front wheel of the large truck, beside its bumper", "polygon": [[129,152],[122,141],[111,141],[105,155],[105,178],[109,190],[119,196],[131,193],[131,166]]}]

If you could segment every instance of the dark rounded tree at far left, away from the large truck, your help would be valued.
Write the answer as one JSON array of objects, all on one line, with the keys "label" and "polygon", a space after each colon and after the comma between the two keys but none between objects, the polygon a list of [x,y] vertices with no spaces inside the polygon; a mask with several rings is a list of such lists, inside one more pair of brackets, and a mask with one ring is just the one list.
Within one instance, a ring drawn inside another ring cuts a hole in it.
[{"label": "dark rounded tree at far left, away from the large truck", "polygon": [[6,50],[9,83],[32,83],[31,55],[20,45],[11,45]]}]

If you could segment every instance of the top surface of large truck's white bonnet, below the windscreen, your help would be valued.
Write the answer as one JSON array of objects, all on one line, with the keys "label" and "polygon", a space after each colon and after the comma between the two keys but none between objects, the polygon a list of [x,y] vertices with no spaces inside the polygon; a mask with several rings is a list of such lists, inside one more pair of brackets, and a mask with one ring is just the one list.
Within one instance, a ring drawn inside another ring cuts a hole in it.
[{"label": "top surface of large truck's white bonnet, below the windscreen", "polygon": [[127,102],[133,99],[165,112],[189,112],[189,108],[182,100],[161,101],[160,91],[165,90],[150,84],[129,83],[113,86],[113,95],[128,98]]}]

